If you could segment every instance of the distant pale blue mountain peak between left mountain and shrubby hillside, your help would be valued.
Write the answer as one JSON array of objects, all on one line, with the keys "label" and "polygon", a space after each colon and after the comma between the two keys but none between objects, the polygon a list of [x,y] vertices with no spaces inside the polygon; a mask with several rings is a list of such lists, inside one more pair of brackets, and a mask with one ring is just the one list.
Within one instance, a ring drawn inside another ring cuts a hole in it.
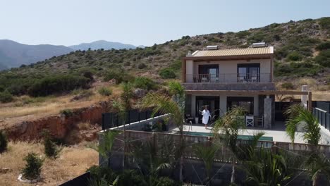
[{"label": "distant pale blue mountain peak between left mountain and shrubby hillside", "polygon": [[104,49],[104,50],[110,50],[110,49],[136,49],[136,46],[132,44],[123,44],[120,42],[107,42],[104,40],[99,40],[96,42],[90,42],[90,43],[82,43],[78,45],[68,46],[73,50],[97,50],[97,49]]}]

